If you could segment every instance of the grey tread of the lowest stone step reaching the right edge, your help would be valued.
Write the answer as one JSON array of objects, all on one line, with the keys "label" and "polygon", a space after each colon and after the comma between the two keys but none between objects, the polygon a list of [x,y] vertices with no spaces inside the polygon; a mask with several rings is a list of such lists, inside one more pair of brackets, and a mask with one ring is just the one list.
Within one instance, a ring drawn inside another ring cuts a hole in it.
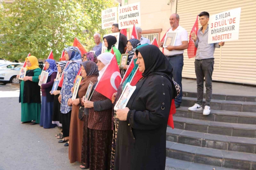
[{"label": "grey tread of the lowest stone step reaching the right edge", "polygon": [[[182,146],[182,149],[179,149],[180,146]],[[200,156],[205,156],[205,157],[210,157],[210,158],[217,158],[217,159],[221,159],[221,160],[224,159],[224,160],[234,160],[234,161],[238,161],[238,162],[248,162],[248,163],[254,163],[254,164],[256,163],[256,154],[254,154],[254,153],[242,153],[242,152],[224,151],[224,150],[218,150],[218,149],[212,149],[212,148],[201,148],[201,147],[197,147],[197,146],[181,144],[181,143],[176,143],[176,142],[170,142],[170,141],[166,141],[166,149],[173,150],[176,152],[188,153],[188,154],[192,154],[192,155],[200,155]],[[199,151],[200,149],[201,149],[201,151]],[[198,153],[197,153],[197,151],[198,151]],[[216,153],[218,153],[219,156],[217,156]],[[223,153],[224,153],[224,155],[223,155]],[[229,156],[225,156],[225,153],[228,153]],[[237,157],[239,159],[237,159],[235,157]],[[250,158],[251,160],[245,159],[245,157]]]}]

